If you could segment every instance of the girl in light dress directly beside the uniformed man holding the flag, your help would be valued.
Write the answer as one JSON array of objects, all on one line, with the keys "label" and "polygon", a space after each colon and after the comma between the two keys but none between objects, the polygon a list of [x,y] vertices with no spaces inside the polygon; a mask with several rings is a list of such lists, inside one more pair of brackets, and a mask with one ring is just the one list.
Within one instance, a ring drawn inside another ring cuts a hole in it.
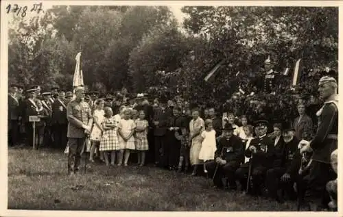
[{"label": "girl in light dress directly beside the uniformed man holding the flag", "polygon": [[[91,151],[89,153],[89,161],[94,162],[93,156],[95,153],[95,149],[99,150],[99,145],[100,145],[100,139],[102,138],[102,121],[105,118],[105,112],[104,112],[104,105],[105,101],[102,99],[99,99],[95,101],[95,110],[93,112],[93,128],[91,131]],[[104,155],[100,153],[100,159],[104,159]]]}]

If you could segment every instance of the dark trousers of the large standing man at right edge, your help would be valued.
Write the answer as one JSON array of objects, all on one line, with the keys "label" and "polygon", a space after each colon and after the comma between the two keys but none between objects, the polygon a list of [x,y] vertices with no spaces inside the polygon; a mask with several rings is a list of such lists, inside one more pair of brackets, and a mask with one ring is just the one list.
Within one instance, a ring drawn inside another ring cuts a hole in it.
[{"label": "dark trousers of the large standing man at right edge", "polygon": [[329,195],[325,188],[329,181],[335,179],[337,175],[331,168],[331,164],[312,161],[309,166],[309,174],[304,177],[307,182],[305,190],[305,201],[314,203],[317,206],[326,206]]}]

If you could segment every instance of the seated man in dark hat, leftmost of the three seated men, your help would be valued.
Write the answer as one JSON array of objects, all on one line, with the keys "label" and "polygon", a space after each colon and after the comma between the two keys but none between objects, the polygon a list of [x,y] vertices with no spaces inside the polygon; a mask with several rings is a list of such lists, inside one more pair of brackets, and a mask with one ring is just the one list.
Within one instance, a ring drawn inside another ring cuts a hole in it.
[{"label": "seated man in dark hat, leftmost of the three seated men", "polygon": [[[231,190],[236,190],[235,171],[239,168],[243,156],[243,142],[238,136],[233,134],[235,127],[230,123],[224,125],[223,136],[217,144],[215,160],[206,163],[206,168],[210,175],[214,175],[213,183],[218,188],[223,187],[222,178],[226,178]],[[217,171],[215,171],[215,168]],[[215,174],[214,174],[215,173]]]}]

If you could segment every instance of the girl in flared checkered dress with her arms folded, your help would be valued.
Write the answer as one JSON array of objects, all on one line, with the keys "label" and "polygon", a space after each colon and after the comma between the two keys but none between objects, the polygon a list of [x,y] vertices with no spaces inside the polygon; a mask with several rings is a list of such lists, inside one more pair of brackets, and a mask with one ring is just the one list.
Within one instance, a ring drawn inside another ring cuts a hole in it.
[{"label": "girl in flared checkered dress with her arms folded", "polygon": [[102,139],[100,140],[99,151],[104,152],[105,163],[108,166],[108,153],[111,153],[111,163],[115,165],[115,151],[122,149],[120,143],[118,142],[117,136],[117,124],[115,123],[115,117],[112,116],[113,112],[110,107],[105,107],[105,118],[102,123],[102,129],[104,133]]}]

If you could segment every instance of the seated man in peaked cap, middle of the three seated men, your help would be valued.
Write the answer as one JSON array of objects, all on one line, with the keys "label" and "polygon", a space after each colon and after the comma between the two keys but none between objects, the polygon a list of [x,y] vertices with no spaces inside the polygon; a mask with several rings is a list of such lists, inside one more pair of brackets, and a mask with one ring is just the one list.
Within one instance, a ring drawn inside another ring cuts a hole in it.
[{"label": "seated man in peaked cap, middle of the three seated men", "polygon": [[251,157],[252,194],[261,195],[264,188],[265,173],[272,166],[274,158],[274,142],[267,136],[268,121],[260,118],[255,122],[258,137],[251,140],[246,157]]}]

